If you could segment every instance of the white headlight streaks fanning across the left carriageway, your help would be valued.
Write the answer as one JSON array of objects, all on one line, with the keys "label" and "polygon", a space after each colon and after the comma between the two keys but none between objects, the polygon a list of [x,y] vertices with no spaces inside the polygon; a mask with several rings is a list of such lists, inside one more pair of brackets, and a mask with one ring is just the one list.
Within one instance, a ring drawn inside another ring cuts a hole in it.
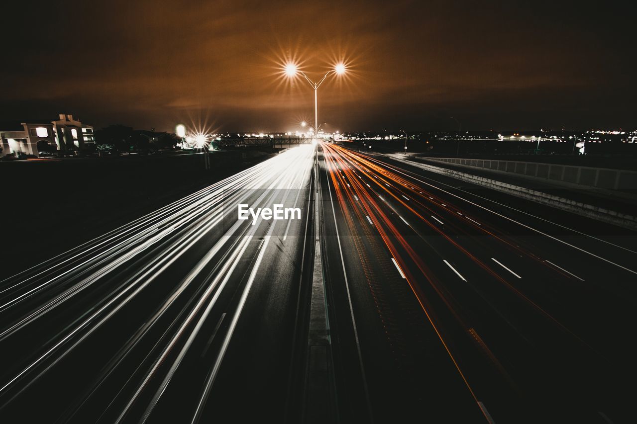
[{"label": "white headlight streaks fanning across the left carriageway", "polygon": [[[154,284],[160,276],[163,276],[169,269],[175,269],[178,262],[183,262],[185,255],[192,255],[196,244],[201,244],[210,237],[215,237],[216,243],[210,248],[194,268],[192,268],[186,278],[171,289],[171,295],[166,298],[161,306],[155,309],[155,313],[134,334],[129,341],[124,344],[124,348],[118,351],[117,355],[110,361],[110,368],[104,369],[94,388],[89,390],[87,398],[95,393],[97,387],[103,384],[106,378],[113,375],[113,370],[123,366],[127,355],[132,352],[143,338],[150,337],[150,332],[157,325],[164,315],[173,311],[177,305],[185,302],[185,306],[176,314],[173,324],[169,329],[171,332],[163,333],[160,339],[152,342],[152,345],[163,348],[157,352],[154,349],[148,352],[148,359],[154,357],[155,365],[164,362],[166,355],[180,344],[180,351],[183,358],[189,353],[192,341],[197,337],[197,330],[186,332],[186,327],[197,315],[200,329],[206,321],[208,313],[215,306],[215,302],[222,293],[224,287],[231,281],[238,278],[234,272],[239,266],[243,257],[252,254],[249,240],[255,234],[267,230],[272,234],[276,221],[262,222],[257,225],[250,225],[248,222],[236,220],[236,205],[240,203],[252,204],[255,207],[271,206],[273,202],[282,204],[292,204],[296,207],[297,201],[309,184],[311,167],[314,154],[312,146],[299,146],[287,150],[272,159],[265,160],[241,173],[235,174],[225,180],[219,181],[194,194],[183,197],[164,208],[157,209],[137,220],[132,221],[122,227],[118,227],[104,236],[97,237],[78,248],[69,250],[62,255],[42,262],[35,267],[31,267],[25,272],[3,281],[3,289],[0,292],[0,318],[7,314],[20,313],[18,307],[22,307],[27,300],[44,299],[41,304],[32,307],[31,311],[23,313],[17,320],[4,321],[6,327],[1,329],[0,343],[10,339],[18,332],[28,330],[37,320],[43,319],[46,314],[50,314],[54,309],[65,306],[76,297],[85,297],[85,293],[99,290],[101,295],[93,300],[93,303],[85,304],[77,313],[79,320],[73,316],[64,318],[70,320],[69,323],[61,322],[64,329],[48,344],[39,347],[39,353],[33,360],[24,364],[22,369],[17,370],[13,376],[8,377],[0,383],[0,407],[4,407],[15,399],[17,395],[24,392],[47,372],[62,358],[67,357],[71,351],[91,337],[97,329],[119,316],[124,307],[129,307],[137,300],[141,293]],[[297,190],[296,196],[290,196],[291,190]],[[259,195],[260,194],[260,195]],[[228,223],[234,225],[228,227]],[[265,228],[264,228],[265,227]],[[285,229],[285,235],[289,226]],[[241,240],[240,243],[235,243]],[[208,242],[206,242],[208,243]],[[268,243],[259,246],[257,250],[260,255],[268,250]],[[248,253],[249,252],[249,253]],[[225,257],[226,262],[220,267],[216,267],[215,274],[211,276],[211,283],[203,292],[195,291],[195,298],[189,299],[187,292],[192,292],[190,288],[201,279],[204,270],[210,268],[215,260]],[[138,267],[134,271],[128,270],[132,262],[136,262]],[[258,268],[258,267],[257,267]],[[255,268],[256,269],[256,268]],[[132,271],[132,273],[131,273]],[[117,282],[117,284],[105,285],[105,281],[110,281],[116,273],[127,272],[129,276]],[[256,274],[251,279],[254,282]],[[250,286],[252,283],[250,283]],[[244,292],[244,299],[250,292],[249,287]],[[185,297],[186,296],[186,297]],[[183,298],[183,299],[182,299]],[[206,313],[201,314],[203,306],[206,306]],[[188,309],[189,308],[189,309]],[[178,310],[177,310],[178,311]],[[57,319],[51,316],[51,319]],[[181,318],[179,318],[181,317]],[[238,315],[237,315],[238,317]],[[13,322],[12,322],[13,321]],[[70,324],[70,325],[69,325]],[[173,328],[175,327],[175,328]],[[162,334],[162,333],[160,333]],[[172,341],[164,340],[166,336]],[[187,337],[187,341],[180,341]],[[231,333],[225,336],[229,341]],[[8,340],[9,341],[9,340]],[[168,342],[166,344],[166,342]],[[148,342],[146,342],[148,343]],[[180,360],[175,362],[174,368],[164,376],[164,385],[168,385],[171,376],[176,372]],[[15,364],[18,365],[18,364]],[[141,371],[147,367],[146,361],[138,365]],[[120,409],[120,419],[126,416],[141,392],[148,388],[150,380],[158,378],[159,368],[150,366],[146,371],[146,378],[141,380],[134,394],[126,402],[128,406]],[[134,383],[131,374],[129,383]],[[17,386],[20,381],[20,386]],[[129,385],[126,383],[125,385]],[[118,395],[111,401],[109,408],[115,408],[119,404],[120,398],[125,396],[124,386]],[[84,399],[78,407],[85,404]],[[154,399],[154,401],[159,400]],[[154,403],[148,406],[150,413],[154,408]],[[106,413],[106,410],[104,411]],[[75,414],[73,412],[72,414]]]}]

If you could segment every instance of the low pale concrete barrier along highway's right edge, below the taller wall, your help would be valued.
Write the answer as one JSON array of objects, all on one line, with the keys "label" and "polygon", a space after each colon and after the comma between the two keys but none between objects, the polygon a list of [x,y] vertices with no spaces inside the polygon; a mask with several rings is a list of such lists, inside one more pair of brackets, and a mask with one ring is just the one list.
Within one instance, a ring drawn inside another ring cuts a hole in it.
[{"label": "low pale concrete barrier along highway's right edge, below the taller wall", "polygon": [[408,165],[417,166],[421,169],[424,169],[425,171],[450,176],[452,178],[456,178],[457,180],[467,181],[469,183],[481,185],[482,187],[492,188],[493,190],[497,190],[499,192],[504,192],[506,194],[521,197],[522,199],[527,199],[533,202],[545,204],[547,206],[552,206],[557,209],[576,213],[577,215],[586,216],[587,218],[611,223],[613,225],[619,225],[620,227],[631,230],[637,230],[637,218],[633,215],[627,215],[624,213],[619,213],[617,211],[612,211],[610,209],[601,208],[599,206],[576,202],[571,199],[566,199],[566,197],[559,197],[552,194],[538,192],[537,190],[520,187],[519,185],[503,183],[501,181],[490,180],[489,178],[461,173],[460,171],[455,171],[454,169],[447,169],[439,166],[423,164],[422,162],[416,162],[414,160],[403,159],[399,157],[399,155],[387,155],[387,157],[398,160],[399,162],[404,162]]}]

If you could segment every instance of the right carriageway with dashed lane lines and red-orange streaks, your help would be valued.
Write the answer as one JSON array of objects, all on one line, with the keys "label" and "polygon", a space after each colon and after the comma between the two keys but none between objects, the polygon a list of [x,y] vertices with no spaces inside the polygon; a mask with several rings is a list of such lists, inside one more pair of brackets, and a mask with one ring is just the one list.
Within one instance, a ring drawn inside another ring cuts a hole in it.
[{"label": "right carriageway with dashed lane lines and red-orange streaks", "polygon": [[634,233],[383,155],[322,151],[343,416],[634,420]]}]

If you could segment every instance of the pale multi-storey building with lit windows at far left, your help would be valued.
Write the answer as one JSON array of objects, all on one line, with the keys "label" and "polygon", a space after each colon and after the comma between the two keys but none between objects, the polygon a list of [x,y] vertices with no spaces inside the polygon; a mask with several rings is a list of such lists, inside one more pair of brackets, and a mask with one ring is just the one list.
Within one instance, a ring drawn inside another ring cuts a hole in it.
[{"label": "pale multi-storey building with lit windows at far left", "polygon": [[59,115],[55,121],[31,121],[0,127],[2,155],[40,156],[55,152],[76,152],[95,145],[93,127]]}]

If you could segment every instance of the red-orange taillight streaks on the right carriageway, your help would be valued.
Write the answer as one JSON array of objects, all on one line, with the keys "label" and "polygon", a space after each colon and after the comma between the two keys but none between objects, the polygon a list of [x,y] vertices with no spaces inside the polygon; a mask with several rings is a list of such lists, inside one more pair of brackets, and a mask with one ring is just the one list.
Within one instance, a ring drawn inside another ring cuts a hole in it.
[{"label": "red-orange taillight streaks on the right carriageway", "polygon": [[[329,176],[333,180],[334,188],[336,190],[336,194],[338,199],[340,200],[341,209],[343,211],[343,215],[345,218],[350,221],[351,218],[348,218],[349,210],[352,209],[356,215],[362,213],[362,220],[368,220],[373,223],[375,230],[382,239],[383,243],[387,247],[387,257],[394,264],[394,267],[401,273],[401,276],[404,275],[404,279],[410,285],[413,294],[419,300],[420,306],[422,307],[424,313],[427,316],[427,320],[431,323],[431,325],[436,330],[436,334],[438,334],[441,343],[445,346],[445,350],[447,350],[448,354],[452,358],[457,370],[464,379],[466,385],[471,391],[472,395],[474,395],[473,388],[469,386],[469,379],[471,376],[467,376],[464,372],[464,366],[457,360],[456,354],[458,352],[452,351],[451,347],[448,346],[445,339],[447,339],[449,331],[448,329],[441,329],[442,323],[437,322],[437,318],[431,316],[431,310],[428,306],[429,300],[426,299],[426,295],[420,290],[419,286],[424,283],[429,283],[431,287],[435,290],[437,295],[443,301],[443,303],[447,306],[448,312],[455,317],[459,327],[464,329],[471,329],[473,325],[471,325],[471,320],[468,317],[464,316],[462,313],[462,308],[454,300],[454,297],[448,293],[446,284],[441,282],[436,276],[436,270],[431,269],[429,266],[429,260],[431,258],[427,257],[426,260],[423,260],[423,255],[420,252],[414,251],[412,248],[412,242],[407,242],[404,238],[404,235],[396,229],[394,222],[392,220],[403,220],[402,211],[401,214],[398,213],[398,210],[394,208],[394,206],[390,206],[389,201],[392,204],[396,205],[398,209],[404,209],[409,213],[413,213],[413,215],[418,218],[417,221],[428,225],[431,229],[433,229],[436,234],[440,234],[441,239],[448,242],[450,247],[457,249],[458,253],[461,253],[462,256],[468,258],[469,261],[473,262],[473,264],[477,265],[482,271],[487,272],[487,274],[492,278],[493,281],[497,281],[505,286],[511,293],[515,296],[519,297],[523,302],[529,304],[533,308],[534,311],[541,314],[541,316],[545,316],[550,320],[550,322],[554,323],[562,332],[566,332],[570,336],[576,340],[576,343],[581,343],[586,348],[589,348],[592,351],[595,351],[590,344],[583,341],[583,339],[575,334],[572,330],[568,329],[564,324],[559,322],[551,313],[544,309],[543,307],[536,302],[536,300],[531,299],[528,295],[524,293],[524,286],[513,286],[512,283],[506,281],[505,278],[500,276],[498,272],[496,272],[497,267],[495,265],[488,265],[487,259],[490,259],[490,256],[487,256],[487,252],[496,251],[496,249],[504,249],[505,251],[515,251],[519,252],[519,256],[524,258],[524,260],[530,261],[529,265],[531,267],[536,268],[536,264],[544,264],[544,261],[541,260],[538,255],[535,255],[532,251],[526,250],[525,246],[519,245],[518,243],[514,243],[510,240],[505,239],[503,236],[499,236],[497,230],[491,227],[488,223],[480,223],[474,220],[473,218],[467,216],[468,211],[465,211],[454,204],[450,204],[448,201],[440,201],[440,198],[434,199],[433,196],[429,196],[426,190],[423,190],[418,185],[410,185],[402,182],[401,179],[396,178],[396,173],[399,170],[386,166],[382,164],[382,162],[378,160],[371,160],[368,157],[362,157],[357,153],[352,152],[351,150],[347,150],[338,145],[323,145],[324,150],[326,151],[326,155],[329,157],[329,163],[339,164],[341,169],[345,168],[345,164],[348,167],[353,169],[352,172],[355,172],[359,179],[351,178],[350,174],[346,172],[344,173],[330,173]],[[329,167],[328,167],[329,171]],[[395,171],[395,172],[394,172]],[[408,174],[403,173],[404,176],[408,176]],[[349,181],[352,181],[351,187],[345,187],[344,184],[340,183],[343,178],[348,178]],[[418,178],[411,177],[414,183],[422,182]],[[359,180],[360,183],[356,183]],[[392,184],[395,183],[395,184]],[[420,186],[422,187],[422,186]],[[410,191],[413,190],[413,191]],[[387,197],[390,196],[390,197]],[[429,198],[427,204],[421,201],[421,199]],[[360,202],[356,202],[355,199],[359,199]],[[387,201],[389,199],[389,201]],[[410,200],[410,202],[406,202],[406,200]],[[412,202],[413,201],[413,202]],[[392,213],[385,213],[386,209],[391,209]],[[434,220],[438,221],[438,223],[443,224],[442,220],[436,218],[435,215],[427,214],[427,212],[433,212],[437,215],[447,217],[447,220],[450,221],[448,223],[448,229],[450,234],[445,234],[442,232],[439,227],[436,225],[432,225],[432,223],[428,222],[425,219],[425,216],[431,216]],[[446,215],[445,215],[446,214]],[[465,219],[466,218],[466,219]],[[352,224],[350,224],[352,225]],[[414,224],[415,225],[415,224]],[[356,231],[355,227],[352,227],[352,231]],[[419,228],[414,228],[413,231],[417,236],[420,237],[425,243],[427,242],[427,236],[423,236],[420,234]],[[475,234],[484,234],[489,237],[475,237]],[[501,232],[500,232],[501,234]],[[465,246],[462,246],[456,238],[458,236],[468,236],[470,239],[470,243],[462,243]],[[440,242],[443,243],[443,242]],[[436,243],[436,244],[440,244]],[[471,246],[471,248],[475,249],[476,246],[484,246],[484,248],[479,248],[476,251],[476,254],[469,253],[466,245]],[[500,246],[498,246],[500,244]],[[446,249],[446,248],[445,248]],[[440,254],[440,253],[438,253]],[[380,258],[376,257],[376,260],[380,260]],[[443,262],[449,269],[451,269],[454,274],[458,276],[462,281],[467,281],[462,274],[460,274],[454,266],[450,264],[447,259],[442,259]],[[441,266],[445,266],[441,265]],[[497,262],[497,265],[502,266],[501,262]],[[520,278],[518,274],[515,274],[512,270],[505,267],[508,271],[512,272],[514,276]],[[550,270],[550,271],[549,271]],[[561,273],[555,272],[555,269],[551,269],[548,265],[545,264],[542,267],[540,272],[552,273],[551,275],[555,278],[555,276],[559,276],[559,278],[564,278]],[[472,274],[473,275],[473,274]],[[483,278],[483,277],[480,277]],[[477,281],[477,280],[476,280]],[[519,334],[520,338],[527,343],[528,346],[533,346],[533,341],[527,339],[524,335],[520,327],[517,327],[515,323],[511,322],[507,319],[507,317],[498,309],[497,305],[493,304],[490,299],[485,297],[483,290],[480,286],[472,284],[468,285],[468,288],[476,292],[480,296],[484,302],[489,305],[495,314],[499,316],[509,325],[513,330]],[[482,341],[483,343],[483,341]],[[481,345],[482,349],[485,351],[489,351],[489,348],[486,348],[484,344]],[[461,356],[466,355],[466,353],[460,353]],[[503,374],[504,381],[510,381],[510,378],[507,376],[507,372],[501,367],[500,362],[492,356],[490,353],[490,358],[496,366],[494,369]],[[462,369],[461,369],[462,368]],[[475,395],[474,395],[475,398]],[[476,402],[477,402],[477,398]],[[481,407],[483,413],[485,413],[485,408]],[[485,413],[486,416],[486,413]]]}]

